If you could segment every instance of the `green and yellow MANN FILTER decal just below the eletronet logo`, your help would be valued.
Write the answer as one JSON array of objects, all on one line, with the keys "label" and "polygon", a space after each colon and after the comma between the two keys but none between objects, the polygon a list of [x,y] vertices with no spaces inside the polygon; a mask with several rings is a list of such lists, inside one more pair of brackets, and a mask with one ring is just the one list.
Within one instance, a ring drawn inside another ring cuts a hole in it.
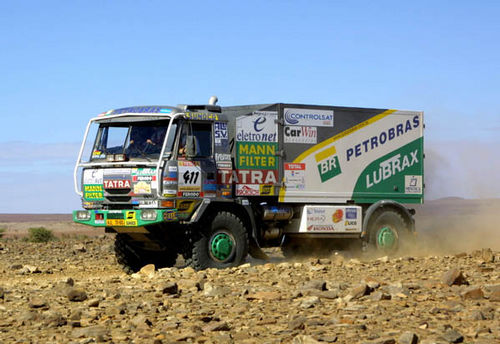
[{"label": "green and yellow MANN FILTER decal just below the eletronet logo", "polygon": [[277,143],[237,142],[236,166],[238,169],[277,169]]}]

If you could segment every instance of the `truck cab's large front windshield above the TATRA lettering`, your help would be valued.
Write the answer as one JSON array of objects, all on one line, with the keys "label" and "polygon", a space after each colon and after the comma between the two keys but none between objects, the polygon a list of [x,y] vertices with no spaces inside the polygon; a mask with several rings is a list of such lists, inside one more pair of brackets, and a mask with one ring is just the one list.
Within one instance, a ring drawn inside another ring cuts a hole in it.
[{"label": "truck cab's large front windshield above the TATRA lettering", "polygon": [[[165,140],[168,120],[127,123],[102,123],[99,126],[91,160],[106,159],[110,154],[125,154],[128,160],[157,160]],[[173,123],[165,155],[172,151],[177,124]]]}]

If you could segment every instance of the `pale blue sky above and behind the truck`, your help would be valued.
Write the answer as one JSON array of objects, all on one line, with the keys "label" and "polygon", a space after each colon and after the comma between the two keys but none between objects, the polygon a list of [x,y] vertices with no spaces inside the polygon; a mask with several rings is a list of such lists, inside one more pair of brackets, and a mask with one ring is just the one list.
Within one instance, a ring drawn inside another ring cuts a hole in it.
[{"label": "pale blue sky above and behind the truck", "polygon": [[214,94],[423,110],[428,197],[500,197],[499,17],[497,1],[2,1],[0,212],[80,207],[90,117]]}]

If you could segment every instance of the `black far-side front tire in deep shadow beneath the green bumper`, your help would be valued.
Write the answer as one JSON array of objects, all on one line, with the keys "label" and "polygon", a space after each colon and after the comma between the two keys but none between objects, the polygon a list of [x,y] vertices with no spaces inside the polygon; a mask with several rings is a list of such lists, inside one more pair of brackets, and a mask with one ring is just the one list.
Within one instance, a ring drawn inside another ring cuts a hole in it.
[{"label": "black far-side front tire in deep shadow beneath the green bumper", "polygon": [[128,274],[139,271],[144,265],[154,264],[157,269],[174,266],[177,252],[174,250],[149,251],[128,240],[126,235],[117,234],[115,257],[123,271]]}]

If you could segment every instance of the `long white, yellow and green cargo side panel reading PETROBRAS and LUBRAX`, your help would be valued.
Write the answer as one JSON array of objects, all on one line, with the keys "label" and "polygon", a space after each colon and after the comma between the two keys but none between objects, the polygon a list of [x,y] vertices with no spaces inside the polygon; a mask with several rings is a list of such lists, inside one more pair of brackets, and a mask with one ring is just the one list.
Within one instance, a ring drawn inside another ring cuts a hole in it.
[{"label": "long white, yellow and green cargo side panel reading PETROBRAS and LUBRAX", "polygon": [[281,202],[423,199],[423,113],[283,105]]}]

